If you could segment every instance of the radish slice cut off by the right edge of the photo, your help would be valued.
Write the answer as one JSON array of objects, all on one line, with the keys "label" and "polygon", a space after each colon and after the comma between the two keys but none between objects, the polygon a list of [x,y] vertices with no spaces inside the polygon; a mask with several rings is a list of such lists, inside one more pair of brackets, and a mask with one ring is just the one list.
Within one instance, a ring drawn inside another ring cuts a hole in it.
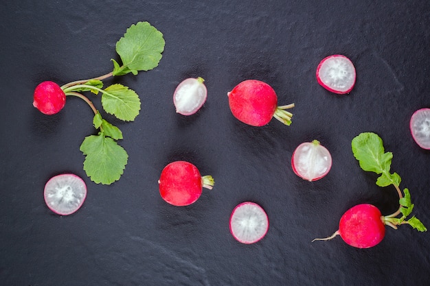
[{"label": "radish slice cut off by the right edge of the photo", "polygon": [[409,122],[412,138],[422,147],[430,150],[430,108],[416,110]]}]

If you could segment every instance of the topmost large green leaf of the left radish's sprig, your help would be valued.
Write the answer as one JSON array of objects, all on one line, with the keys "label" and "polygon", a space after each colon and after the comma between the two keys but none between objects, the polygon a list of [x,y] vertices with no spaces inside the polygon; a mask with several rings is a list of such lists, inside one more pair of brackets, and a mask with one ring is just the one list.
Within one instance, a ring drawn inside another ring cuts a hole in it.
[{"label": "topmost large green leaf of the left radish's sprig", "polygon": [[122,66],[113,60],[113,75],[125,75],[154,69],[161,60],[165,41],[163,34],[148,22],[131,25],[116,44]]}]

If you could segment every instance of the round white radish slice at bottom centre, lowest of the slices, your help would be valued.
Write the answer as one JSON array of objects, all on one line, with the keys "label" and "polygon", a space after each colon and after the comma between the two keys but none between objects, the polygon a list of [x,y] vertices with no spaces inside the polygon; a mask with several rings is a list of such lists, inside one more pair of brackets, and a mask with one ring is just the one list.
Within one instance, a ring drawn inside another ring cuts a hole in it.
[{"label": "round white radish slice at bottom centre, lowest of the slices", "polygon": [[266,235],[267,230],[269,218],[254,202],[242,202],[231,213],[230,232],[241,243],[255,243]]}]

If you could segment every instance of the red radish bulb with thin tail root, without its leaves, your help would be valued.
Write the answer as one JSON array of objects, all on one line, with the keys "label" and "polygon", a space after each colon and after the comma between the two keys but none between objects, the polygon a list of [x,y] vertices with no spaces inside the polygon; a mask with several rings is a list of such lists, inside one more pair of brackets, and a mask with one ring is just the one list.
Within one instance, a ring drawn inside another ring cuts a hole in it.
[{"label": "red radish bulb with thin tail root, without its leaves", "polygon": [[344,213],[339,222],[339,230],[329,240],[340,235],[343,241],[356,248],[371,248],[380,243],[385,236],[385,222],[376,206],[372,204],[357,204]]}]

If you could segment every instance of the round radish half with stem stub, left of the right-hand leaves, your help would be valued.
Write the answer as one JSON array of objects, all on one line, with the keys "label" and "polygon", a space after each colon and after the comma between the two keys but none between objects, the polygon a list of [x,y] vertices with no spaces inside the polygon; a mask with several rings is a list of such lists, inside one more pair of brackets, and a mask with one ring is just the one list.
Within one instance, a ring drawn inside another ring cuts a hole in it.
[{"label": "round radish half with stem stub, left of the right-hand leaves", "polygon": [[315,181],[328,174],[332,167],[332,156],[319,141],[305,142],[295,149],[291,166],[297,176]]}]

